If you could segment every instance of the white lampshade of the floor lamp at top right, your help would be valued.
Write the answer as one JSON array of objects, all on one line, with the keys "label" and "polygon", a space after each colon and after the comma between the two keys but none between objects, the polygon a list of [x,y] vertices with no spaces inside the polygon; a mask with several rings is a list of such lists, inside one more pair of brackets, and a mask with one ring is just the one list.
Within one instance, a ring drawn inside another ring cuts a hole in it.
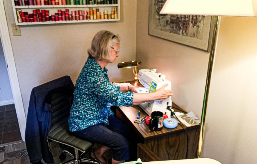
[{"label": "white lampshade of the floor lamp at top right", "polygon": [[167,0],[160,14],[255,17],[257,0]]}]

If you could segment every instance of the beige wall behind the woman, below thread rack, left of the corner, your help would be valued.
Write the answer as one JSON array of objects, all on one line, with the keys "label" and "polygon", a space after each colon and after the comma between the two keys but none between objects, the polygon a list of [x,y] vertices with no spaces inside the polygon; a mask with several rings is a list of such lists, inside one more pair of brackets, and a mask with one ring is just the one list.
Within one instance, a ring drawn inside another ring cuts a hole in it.
[{"label": "beige wall behind the woman, below thread rack, left of the corner", "polygon": [[133,79],[131,70],[117,68],[117,63],[134,60],[136,56],[136,0],[132,1],[121,0],[120,21],[20,26],[21,36],[13,36],[13,9],[11,1],[4,0],[26,115],[33,87],[63,75],[71,76],[73,83],[76,82],[87,60],[87,49],[99,30],[110,30],[121,36],[120,56],[107,67],[110,80]]}]

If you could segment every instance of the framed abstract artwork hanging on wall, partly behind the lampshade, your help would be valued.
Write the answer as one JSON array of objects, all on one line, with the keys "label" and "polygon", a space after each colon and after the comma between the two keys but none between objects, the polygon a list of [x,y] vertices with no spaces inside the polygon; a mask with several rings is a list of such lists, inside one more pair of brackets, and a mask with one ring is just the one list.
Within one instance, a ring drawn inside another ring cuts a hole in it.
[{"label": "framed abstract artwork hanging on wall, partly behind the lampshade", "polygon": [[214,18],[202,15],[162,15],[166,0],[149,0],[148,34],[210,52]]}]

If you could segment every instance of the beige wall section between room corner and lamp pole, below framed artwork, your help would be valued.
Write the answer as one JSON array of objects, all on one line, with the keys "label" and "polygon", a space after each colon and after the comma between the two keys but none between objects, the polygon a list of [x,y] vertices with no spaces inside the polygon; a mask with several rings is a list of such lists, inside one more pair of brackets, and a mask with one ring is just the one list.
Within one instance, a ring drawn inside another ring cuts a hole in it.
[{"label": "beige wall section between room corner and lamp pole, below framed artwork", "polygon": [[198,117],[209,53],[148,35],[148,0],[137,1],[136,59],[141,68],[155,68],[172,83],[172,101]]}]

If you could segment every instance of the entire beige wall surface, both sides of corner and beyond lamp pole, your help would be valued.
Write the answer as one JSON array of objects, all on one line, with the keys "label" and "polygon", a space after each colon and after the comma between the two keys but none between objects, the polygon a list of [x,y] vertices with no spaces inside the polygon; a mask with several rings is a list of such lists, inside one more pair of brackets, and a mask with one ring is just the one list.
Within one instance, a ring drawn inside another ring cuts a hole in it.
[{"label": "entire beige wall surface, both sides of corner and beyond lamp pole", "polygon": [[[11,2],[4,2],[10,27],[14,22]],[[108,66],[111,80],[132,79],[131,70],[119,70],[117,63],[136,54],[142,60],[140,69],[156,68],[165,74],[172,81],[172,100],[200,117],[209,54],[149,36],[148,0],[134,2],[121,1],[119,22],[21,26],[22,36],[11,36],[11,41],[25,110],[33,87],[63,75],[75,82],[93,35],[107,29],[122,38],[120,57]],[[222,164],[257,161],[255,24],[257,18],[221,20],[202,157]]]}]

